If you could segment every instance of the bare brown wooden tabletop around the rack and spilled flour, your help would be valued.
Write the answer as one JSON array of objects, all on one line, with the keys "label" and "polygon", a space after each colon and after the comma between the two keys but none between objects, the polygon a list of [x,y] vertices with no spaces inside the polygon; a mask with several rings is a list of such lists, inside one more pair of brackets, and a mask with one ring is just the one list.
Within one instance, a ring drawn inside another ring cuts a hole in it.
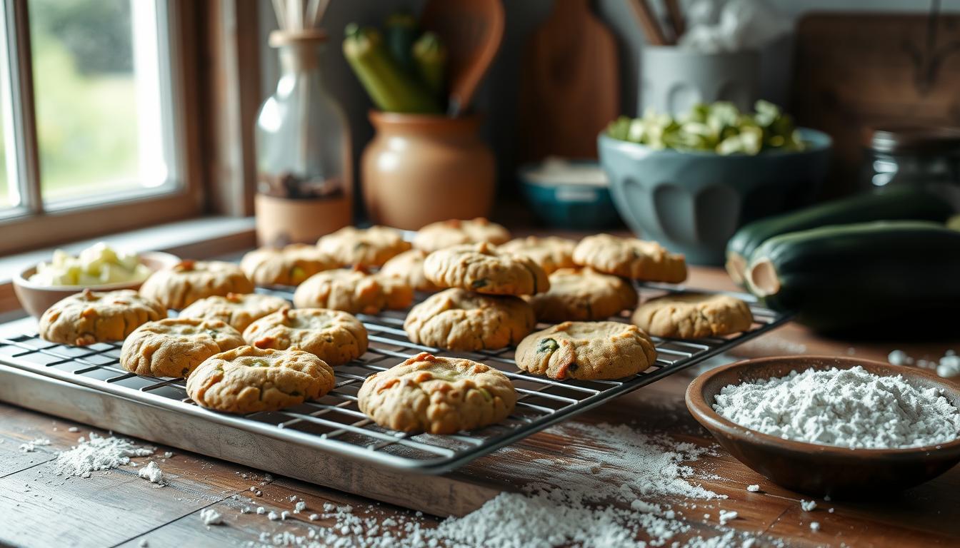
[{"label": "bare brown wooden tabletop around the rack and spilled flour", "polygon": [[[709,269],[694,269],[689,284],[718,289],[730,287],[725,274]],[[741,346],[737,354],[749,357],[854,354],[882,360],[891,350],[900,348],[917,358],[936,359],[951,345],[958,346],[955,341],[926,345],[828,341],[791,324]],[[711,445],[707,432],[693,421],[684,407],[684,389],[691,374],[668,377],[575,420],[629,423],[638,432],[665,432],[678,441]],[[71,427],[79,431],[71,432]],[[258,545],[263,533],[268,537],[283,532],[303,536],[311,527],[331,525],[330,520],[310,521],[307,517],[310,513],[322,512],[324,502],[347,503],[355,507],[355,512],[379,517],[411,515],[399,507],[375,504],[369,499],[283,477],[265,477],[258,470],[171,447],[161,446],[156,452],[157,457],[167,450],[174,453],[169,459],[159,461],[169,477],[169,485],[164,488],[155,488],[140,479],[137,468],[131,467],[114,469],[108,474],[94,473],[88,479],[55,475],[56,452],[69,448],[78,437],[88,436],[91,431],[104,434],[84,424],[0,404],[0,543],[137,546],[147,539],[152,547],[245,542]],[[37,446],[29,453],[18,450],[20,443],[36,438],[49,438],[51,444]],[[567,471],[532,463],[537,459],[569,459],[569,447],[576,442],[557,430],[548,430],[481,458],[458,474],[475,482],[478,492],[520,488],[532,481],[563,486]],[[149,459],[135,461],[145,464]],[[728,523],[728,527],[780,538],[788,545],[960,545],[960,519],[957,519],[960,517],[960,467],[924,486],[891,493],[885,499],[821,502],[814,512],[803,512],[800,508],[803,496],[771,484],[722,449],[715,456],[704,457],[692,465],[698,471],[721,478],[702,480],[702,483],[705,488],[729,498],[704,503],[697,511],[678,507],[691,528],[673,540],[721,534],[723,529],[717,524],[717,514],[720,510],[732,510],[739,516]],[[748,492],[746,487],[751,484],[758,484],[761,492]],[[261,495],[252,493],[251,487],[259,489]],[[305,501],[307,510],[293,513],[291,496]],[[368,508],[369,505],[373,505],[372,508]],[[239,512],[242,506],[262,506],[267,512],[291,513],[285,521],[271,521],[266,515]],[[199,514],[207,508],[221,512],[225,525],[204,527]],[[827,512],[828,508],[834,512]],[[710,513],[711,517],[706,519],[704,513]],[[430,516],[422,519],[427,525],[437,522]],[[810,530],[812,520],[821,524],[819,532]],[[764,543],[761,541],[760,545]]]}]

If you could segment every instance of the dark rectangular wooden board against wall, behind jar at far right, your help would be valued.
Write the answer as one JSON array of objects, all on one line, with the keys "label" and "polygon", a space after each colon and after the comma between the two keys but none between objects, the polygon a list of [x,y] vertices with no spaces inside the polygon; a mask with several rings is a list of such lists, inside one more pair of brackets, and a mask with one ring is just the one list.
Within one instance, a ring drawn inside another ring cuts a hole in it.
[{"label": "dark rectangular wooden board against wall, behind jar at far right", "polygon": [[797,26],[791,111],[834,151],[825,197],[856,187],[878,126],[960,126],[960,15],[811,13]]}]

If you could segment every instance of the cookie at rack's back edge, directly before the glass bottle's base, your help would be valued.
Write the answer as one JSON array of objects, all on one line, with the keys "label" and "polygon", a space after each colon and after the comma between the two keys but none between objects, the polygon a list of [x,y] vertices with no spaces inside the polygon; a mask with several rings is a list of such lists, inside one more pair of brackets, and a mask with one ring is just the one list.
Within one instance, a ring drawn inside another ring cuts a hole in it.
[{"label": "cookie at rack's back edge, directly before the glass bottle's base", "polygon": [[252,250],[240,260],[240,270],[256,285],[300,285],[319,272],[340,265],[316,246],[291,244],[282,249]]}]

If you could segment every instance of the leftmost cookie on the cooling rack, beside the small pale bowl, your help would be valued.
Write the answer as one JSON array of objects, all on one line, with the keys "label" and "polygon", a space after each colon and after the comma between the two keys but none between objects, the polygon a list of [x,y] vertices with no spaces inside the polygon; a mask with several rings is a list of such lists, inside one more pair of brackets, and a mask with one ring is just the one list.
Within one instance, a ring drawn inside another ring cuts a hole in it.
[{"label": "leftmost cookie on the cooling rack, beside the small pale bowl", "polygon": [[167,317],[167,309],[132,289],[62,298],[40,316],[39,335],[61,345],[123,341],[133,329]]}]

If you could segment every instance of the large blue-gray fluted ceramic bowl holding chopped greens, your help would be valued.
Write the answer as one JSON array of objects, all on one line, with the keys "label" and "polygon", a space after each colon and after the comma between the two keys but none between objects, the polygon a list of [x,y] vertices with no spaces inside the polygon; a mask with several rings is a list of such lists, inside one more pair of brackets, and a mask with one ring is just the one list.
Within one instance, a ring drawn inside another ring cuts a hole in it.
[{"label": "large blue-gray fluted ceramic bowl holding chopped greens", "polygon": [[812,202],[827,174],[830,137],[800,130],[804,151],[759,155],[654,150],[601,133],[600,164],[613,203],[636,234],[682,252],[689,262],[722,265],[740,226]]}]

